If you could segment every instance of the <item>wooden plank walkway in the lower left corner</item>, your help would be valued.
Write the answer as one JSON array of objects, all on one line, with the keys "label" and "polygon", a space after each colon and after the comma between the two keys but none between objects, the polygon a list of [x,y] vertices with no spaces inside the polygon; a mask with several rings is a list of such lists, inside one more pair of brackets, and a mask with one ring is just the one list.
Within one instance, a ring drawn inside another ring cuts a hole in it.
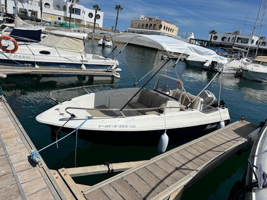
[{"label": "wooden plank walkway in the lower left corner", "polygon": [[42,162],[30,159],[33,143],[0,96],[0,199],[67,199]]}]

